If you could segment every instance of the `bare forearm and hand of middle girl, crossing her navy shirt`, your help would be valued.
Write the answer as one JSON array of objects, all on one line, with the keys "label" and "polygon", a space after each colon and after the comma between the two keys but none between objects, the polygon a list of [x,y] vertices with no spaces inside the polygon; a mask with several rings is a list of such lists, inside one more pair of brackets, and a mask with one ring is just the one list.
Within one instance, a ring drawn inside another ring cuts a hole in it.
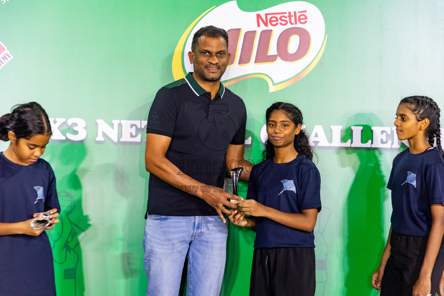
[{"label": "bare forearm and hand of middle girl, crossing her navy shirt", "polygon": [[285,213],[262,205],[253,199],[239,201],[238,205],[242,207],[241,211],[246,215],[266,217],[294,229],[311,232],[316,225],[317,209],[305,209],[300,214]]}]

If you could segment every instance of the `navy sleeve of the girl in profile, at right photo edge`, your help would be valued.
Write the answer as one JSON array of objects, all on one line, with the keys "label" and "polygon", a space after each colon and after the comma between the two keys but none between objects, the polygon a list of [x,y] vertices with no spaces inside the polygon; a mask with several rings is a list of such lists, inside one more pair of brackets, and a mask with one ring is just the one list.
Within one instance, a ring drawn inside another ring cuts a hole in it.
[{"label": "navy sleeve of the girl in profile, at right photo edge", "polygon": [[428,187],[430,205],[444,205],[444,166],[442,163],[434,163],[428,167],[425,176]]}]

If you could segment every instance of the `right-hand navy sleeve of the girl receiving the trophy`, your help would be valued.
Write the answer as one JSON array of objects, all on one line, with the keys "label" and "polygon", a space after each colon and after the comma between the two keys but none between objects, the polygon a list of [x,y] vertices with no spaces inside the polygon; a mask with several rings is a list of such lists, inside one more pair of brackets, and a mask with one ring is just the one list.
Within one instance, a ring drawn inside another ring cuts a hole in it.
[{"label": "right-hand navy sleeve of the girl receiving the trophy", "polygon": [[321,175],[317,168],[308,170],[301,178],[299,209],[318,209],[321,211]]}]

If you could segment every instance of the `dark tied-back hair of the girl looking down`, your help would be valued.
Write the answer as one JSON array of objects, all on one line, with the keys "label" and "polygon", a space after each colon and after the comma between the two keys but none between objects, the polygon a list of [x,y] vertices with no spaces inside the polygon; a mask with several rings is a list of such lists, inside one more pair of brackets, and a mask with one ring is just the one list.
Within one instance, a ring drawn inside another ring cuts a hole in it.
[{"label": "dark tied-back hair of the girl looking down", "polygon": [[48,114],[36,102],[15,106],[10,114],[0,117],[0,140],[8,141],[10,131],[14,132],[16,139],[52,134]]}]

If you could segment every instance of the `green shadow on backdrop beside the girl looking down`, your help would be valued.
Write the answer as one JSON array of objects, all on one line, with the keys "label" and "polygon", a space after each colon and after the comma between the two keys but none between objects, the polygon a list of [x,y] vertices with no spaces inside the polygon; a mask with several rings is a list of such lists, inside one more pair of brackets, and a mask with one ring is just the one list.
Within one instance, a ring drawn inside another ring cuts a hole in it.
[{"label": "green shadow on backdrop beside the girl looking down", "polygon": [[83,296],[85,285],[80,241],[86,237],[86,230],[91,225],[88,216],[83,214],[82,185],[77,170],[87,152],[84,143],[69,142],[53,145],[51,150],[58,161],[54,164],[57,177],[63,172],[63,177],[57,178],[60,223],[48,231],[54,268],[59,275],[56,277],[56,287],[63,296]]}]

